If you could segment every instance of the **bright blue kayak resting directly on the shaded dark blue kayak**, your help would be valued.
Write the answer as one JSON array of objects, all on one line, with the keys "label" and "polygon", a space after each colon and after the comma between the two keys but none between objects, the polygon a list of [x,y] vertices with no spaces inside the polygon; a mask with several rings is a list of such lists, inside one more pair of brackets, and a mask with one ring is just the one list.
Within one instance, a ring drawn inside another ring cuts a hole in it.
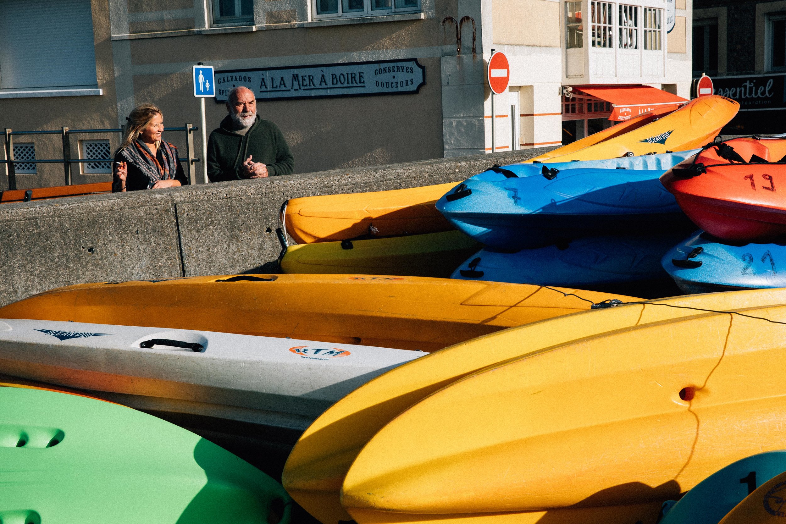
[{"label": "bright blue kayak resting directly on the shaded dark blue kayak", "polygon": [[674,230],[689,222],[658,180],[663,173],[571,169],[501,181],[470,178],[436,207],[468,236],[507,250],[586,235]]}]

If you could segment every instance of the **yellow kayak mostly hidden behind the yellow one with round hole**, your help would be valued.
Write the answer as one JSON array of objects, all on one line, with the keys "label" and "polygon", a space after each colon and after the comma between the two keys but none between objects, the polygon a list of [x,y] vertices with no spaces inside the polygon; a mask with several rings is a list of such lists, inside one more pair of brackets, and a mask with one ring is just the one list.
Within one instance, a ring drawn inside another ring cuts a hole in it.
[{"label": "yellow kayak mostly hidden behind the yellow one with round hole", "polygon": [[736,310],[784,303],[786,289],[692,295],[553,318],[451,346],[365,383],[322,413],[292,449],[282,482],[321,522],[350,520],[339,493],[354,458],[386,423],[447,384],[571,340],[701,313],[686,307]]}]

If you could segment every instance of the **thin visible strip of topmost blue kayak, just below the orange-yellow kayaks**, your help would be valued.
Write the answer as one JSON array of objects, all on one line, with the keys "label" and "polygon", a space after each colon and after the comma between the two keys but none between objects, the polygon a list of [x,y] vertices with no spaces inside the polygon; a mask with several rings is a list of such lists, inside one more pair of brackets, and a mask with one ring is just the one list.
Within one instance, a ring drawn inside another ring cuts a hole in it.
[{"label": "thin visible strip of topmost blue kayak, just below the orange-yellow kayaks", "polygon": [[[701,149],[691,149],[690,151],[679,151],[672,153],[661,153],[659,155],[639,155],[639,156],[620,156],[606,160],[575,160],[574,162],[533,162],[533,163],[512,163],[508,166],[493,167],[483,173],[476,174],[471,180],[483,180],[488,182],[502,181],[505,178],[531,177],[537,174],[549,172],[556,174],[566,169],[630,169],[630,170],[670,170],[678,163],[691,156],[696,155]],[[545,171],[544,171],[545,167]]]}]

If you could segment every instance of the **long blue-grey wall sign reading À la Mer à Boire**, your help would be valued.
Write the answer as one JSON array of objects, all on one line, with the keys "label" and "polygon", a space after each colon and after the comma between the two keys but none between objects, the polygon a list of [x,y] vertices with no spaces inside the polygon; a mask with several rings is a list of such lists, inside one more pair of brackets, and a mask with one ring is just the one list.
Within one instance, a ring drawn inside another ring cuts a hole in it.
[{"label": "long blue-grey wall sign reading \u00c0 la Mer \u00e0 Boire", "polygon": [[257,100],[280,100],[409,94],[417,93],[425,82],[426,68],[417,59],[235,69],[215,71],[215,101],[226,102],[237,86],[248,87]]}]

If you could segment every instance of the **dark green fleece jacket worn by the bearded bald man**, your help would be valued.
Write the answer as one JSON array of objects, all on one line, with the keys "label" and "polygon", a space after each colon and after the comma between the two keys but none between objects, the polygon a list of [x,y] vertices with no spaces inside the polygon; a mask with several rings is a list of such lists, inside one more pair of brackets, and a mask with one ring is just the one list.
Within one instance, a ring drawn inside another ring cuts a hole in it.
[{"label": "dark green fleece jacket worn by the bearded bald man", "polygon": [[242,167],[249,155],[253,162],[266,164],[270,177],[291,174],[295,168],[289,145],[276,124],[257,115],[248,133],[242,135],[232,130],[232,119],[227,115],[208,139],[208,178],[211,182],[248,178]]}]

